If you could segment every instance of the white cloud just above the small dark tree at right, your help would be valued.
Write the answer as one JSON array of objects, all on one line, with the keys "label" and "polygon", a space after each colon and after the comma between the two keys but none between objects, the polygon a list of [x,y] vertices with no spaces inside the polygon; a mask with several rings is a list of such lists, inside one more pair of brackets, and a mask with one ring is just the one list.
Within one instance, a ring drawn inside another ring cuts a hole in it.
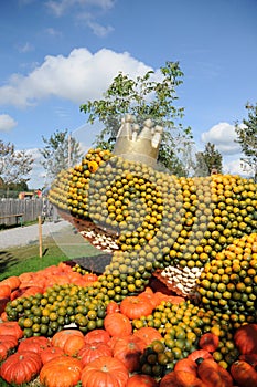
[{"label": "white cloud just above the small dark tree at right", "polygon": [[223,155],[235,155],[240,151],[239,144],[235,143],[237,138],[235,126],[228,123],[214,125],[208,132],[201,136],[203,143],[212,143]]}]

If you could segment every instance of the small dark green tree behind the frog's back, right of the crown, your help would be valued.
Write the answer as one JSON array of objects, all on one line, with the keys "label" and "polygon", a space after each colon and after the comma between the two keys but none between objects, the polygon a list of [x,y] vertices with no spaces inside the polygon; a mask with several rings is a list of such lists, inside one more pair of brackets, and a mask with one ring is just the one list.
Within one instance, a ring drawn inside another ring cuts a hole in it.
[{"label": "small dark green tree behind the frog's back, right of the crown", "polygon": [[222,174],[222,155],[215,149],[215,145],[207,143],[204,151],[195,154],[195,176],[210,176],[213,168]]}]

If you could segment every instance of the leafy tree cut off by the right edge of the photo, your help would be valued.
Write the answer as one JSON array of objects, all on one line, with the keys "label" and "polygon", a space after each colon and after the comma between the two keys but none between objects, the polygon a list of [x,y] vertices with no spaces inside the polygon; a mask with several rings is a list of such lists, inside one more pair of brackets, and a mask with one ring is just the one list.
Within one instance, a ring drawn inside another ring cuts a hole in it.
[{"label": "leafy tree cut off by the right edge of the photo", "polygon": [[236,122],[236,143],[240,144],[245,155],[240,158],[244,170],[250,168],[254,180],[257,182],[257,103],[255,106],[247,103],[245,108],[248,111],[248,118],[243,119],[243,125]]}]

